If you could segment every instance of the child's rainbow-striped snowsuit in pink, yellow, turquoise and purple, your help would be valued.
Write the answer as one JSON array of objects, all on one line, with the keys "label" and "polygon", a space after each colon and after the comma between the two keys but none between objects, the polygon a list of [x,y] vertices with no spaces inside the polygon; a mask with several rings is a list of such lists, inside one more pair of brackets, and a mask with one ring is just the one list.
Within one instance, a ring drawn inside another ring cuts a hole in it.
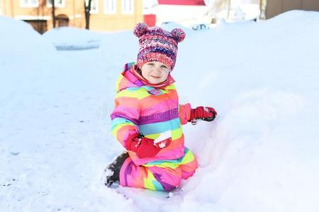
[{"label": "child's rainbow-striped snowsuit in pink, yellow, turquoise and purple", "polygon": [[120,184],[153,190],[170,191],[181,179],[192,176],[196,158],[184,146],[182,124],[186,124],[191,105],[179,105],[174,84],[162,89],[145,86],[130,71],[134,63],[126,64],[116,84],[115,109],[111,114],[113,136],[125,146],[130,134],[140,132],[157,139],[164,131],[172,131],[172,142],[154,158],[138,158],[128,151],[120,172]]}]

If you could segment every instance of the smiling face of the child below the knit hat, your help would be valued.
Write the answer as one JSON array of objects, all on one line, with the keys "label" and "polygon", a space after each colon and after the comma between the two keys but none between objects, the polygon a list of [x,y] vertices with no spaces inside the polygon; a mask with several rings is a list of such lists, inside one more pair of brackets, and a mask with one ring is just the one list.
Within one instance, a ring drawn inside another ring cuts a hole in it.
[{"label": "smiling face of the child below the knit hat", "polygon": [[167,65],[159,61],[150,61],[144,64],[141,68],[142,76],[152,84],[158,84],[166,81],[169,75]]}]

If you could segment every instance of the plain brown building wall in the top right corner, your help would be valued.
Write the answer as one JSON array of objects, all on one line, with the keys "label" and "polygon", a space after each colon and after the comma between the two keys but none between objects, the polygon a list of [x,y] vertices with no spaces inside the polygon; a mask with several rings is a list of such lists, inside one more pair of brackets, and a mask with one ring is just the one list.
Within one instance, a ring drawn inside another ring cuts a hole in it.
[{"label": "plain brown building wall in the top right corner", "polygon": [[267,0],[266,18],[295,9],[319,11],[319,0]]}]

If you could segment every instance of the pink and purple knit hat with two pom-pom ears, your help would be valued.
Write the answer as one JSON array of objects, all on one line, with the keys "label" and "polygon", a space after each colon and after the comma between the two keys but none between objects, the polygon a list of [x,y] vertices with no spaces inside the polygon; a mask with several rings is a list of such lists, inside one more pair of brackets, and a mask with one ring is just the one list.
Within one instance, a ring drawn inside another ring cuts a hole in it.
[{"label": "pink and purple knit hat with two pom-pom ears", "polygon": [[159,27],[149,28],[145,23],[138,23],[134,28],[134,35],[138,37],[140,50],[138,52],[138,67],[142,68],[147,62],[159,61],[174,69],[177,57],[177,44],[185,38],[182,29],[167,32]]}]

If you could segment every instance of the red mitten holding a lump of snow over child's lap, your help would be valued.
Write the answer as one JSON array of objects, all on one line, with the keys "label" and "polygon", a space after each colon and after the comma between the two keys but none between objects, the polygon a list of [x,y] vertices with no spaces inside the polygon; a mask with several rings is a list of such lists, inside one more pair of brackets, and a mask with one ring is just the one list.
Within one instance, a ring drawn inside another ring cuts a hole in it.
[{"label": "red mitten holding a lump of snow over child's lap", "polygon": [[133,134],[128,136],[125,141],[125,148],[128,151],[136,153],[138,158],[152,158],[161,150],[154,144],[153,139],[146,138],[142,134]]}]

